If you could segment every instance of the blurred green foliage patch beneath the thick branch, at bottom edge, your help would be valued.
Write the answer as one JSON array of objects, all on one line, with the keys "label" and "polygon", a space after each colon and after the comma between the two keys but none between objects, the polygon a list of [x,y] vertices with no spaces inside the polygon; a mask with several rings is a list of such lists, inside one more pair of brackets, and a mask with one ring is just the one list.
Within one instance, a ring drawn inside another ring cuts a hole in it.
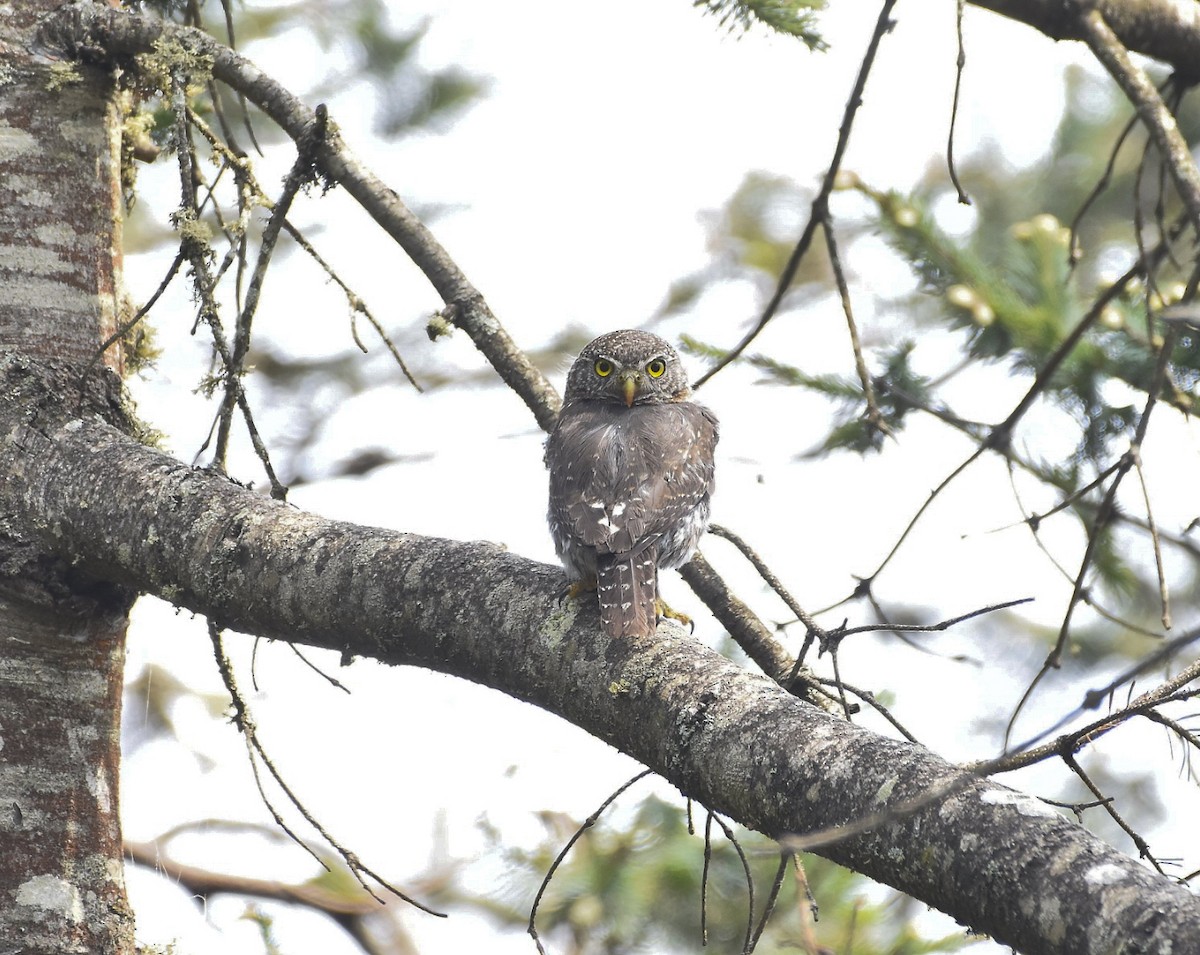
[{"label": "blurred green foliage patch beneath the thick branch, at bottom edge", "polygon": [[[697,809],[698,812],[698,809]],[[695,951],[702,944],[701,894],[704,878],[703,815],[689,831],[688,816],[678,805],[648,798],[632,822],[613,830],[589,829],[571,848],[538,909],[536,926],[552,950],[564,953]],[[532,900],[554,857],[578,823],[557,813],[544,813],[546,841],[533,851],[504,848],[497,834],[494,852],[508,866],[508,902],[463,895],[500,921],[523,927]],[[779,866],[774,842],[756,833],[737,830],[737,839],[754,876],[754,924]],[[707,945],[713,951],[742,949],[750,915],[742,858],[719,825],[712,825],[712,855],[706,896]],[[761,955],[796,951],[809,932],[834,951],[875,953],[954,951],[966,937],[960,933],[926,939],[910,924],[911,903],[899,895],[868,902],[860,876],[816,857],[805,857],[804,871],[820,907],[818,920],[806,915],[794,871],[788,867],[782,889],[756,951]]]}]

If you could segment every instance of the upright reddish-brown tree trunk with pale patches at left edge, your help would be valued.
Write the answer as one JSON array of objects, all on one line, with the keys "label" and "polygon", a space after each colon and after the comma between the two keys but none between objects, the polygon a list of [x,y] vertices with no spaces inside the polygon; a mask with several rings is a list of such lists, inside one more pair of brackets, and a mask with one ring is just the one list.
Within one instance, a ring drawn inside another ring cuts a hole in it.
[{"label": "upright reddish-brown tree trunk with pale patches at left edge", "polygon": [[[78,379],[115,329],[120,118],[102,71],[31,52],[58,5],[0,14],[0,353],[65,359]],[[108,362],[113,379],[119,354]],[[0,487],[18,457],[0,455]],[[118,813],[128,607],[0,507],[5,955],[133,953]]]}]

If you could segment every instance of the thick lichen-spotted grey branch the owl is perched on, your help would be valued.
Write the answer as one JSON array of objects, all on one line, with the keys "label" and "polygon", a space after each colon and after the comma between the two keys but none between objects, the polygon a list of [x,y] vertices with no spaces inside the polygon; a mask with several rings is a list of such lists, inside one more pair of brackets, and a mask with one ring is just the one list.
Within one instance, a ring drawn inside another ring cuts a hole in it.
[{"label": "thick lichen-spotted grey branch the owl is perched on", "polygon": [[590,602],[558,606],[557,569],[326,521],[188,468],[62,407],[73,374],[0,359],[14,462],[0,512],[77,571],[236,630],[496,687],[775,837],[850,825],[817,851],[1031,955],[1200,938],[1200,899],[1037,800],[824,714],[673,624],[610,639]]}]

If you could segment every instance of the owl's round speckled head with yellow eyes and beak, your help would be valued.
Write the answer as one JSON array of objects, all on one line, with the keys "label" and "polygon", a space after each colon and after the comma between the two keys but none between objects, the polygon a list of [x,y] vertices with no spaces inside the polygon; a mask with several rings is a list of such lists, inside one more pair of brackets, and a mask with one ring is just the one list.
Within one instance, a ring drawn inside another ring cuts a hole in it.
[{"label": "owl's round speckled head with yellow eyes and beak", "polygon": [[679,355],[658,335],[611,331],[580,352],[566,374],[566,401],[606,401],[632,408],[691,395]]}]

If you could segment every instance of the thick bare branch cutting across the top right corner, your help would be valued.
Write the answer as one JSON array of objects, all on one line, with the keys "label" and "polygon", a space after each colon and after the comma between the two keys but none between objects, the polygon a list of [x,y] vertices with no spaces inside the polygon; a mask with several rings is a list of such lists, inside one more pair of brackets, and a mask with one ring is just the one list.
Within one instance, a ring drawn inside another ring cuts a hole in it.
[{"label": "thick bare branch cutting across the top right corner", "polygon": [[[1052,40],[1082,40],[1079,5],[1062,0],[970,0],[1027,23]],[[1200,5],[1178,0],[1096,0],[1121,44],[1170,65],[1181,76],[1200,73]]]}]

